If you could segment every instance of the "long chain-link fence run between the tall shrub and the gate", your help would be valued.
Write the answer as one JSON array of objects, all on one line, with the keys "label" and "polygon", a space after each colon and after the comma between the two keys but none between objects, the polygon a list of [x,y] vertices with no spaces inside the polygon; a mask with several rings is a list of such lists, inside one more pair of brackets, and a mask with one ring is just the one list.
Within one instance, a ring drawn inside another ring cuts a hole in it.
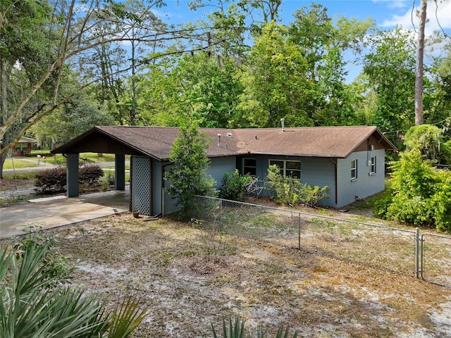
[{"label": "long chain-link fence run between the tall shrub and the gate", "polygon": [[418,277],[418,230],[197,196],[194,222],[225,234]]}]

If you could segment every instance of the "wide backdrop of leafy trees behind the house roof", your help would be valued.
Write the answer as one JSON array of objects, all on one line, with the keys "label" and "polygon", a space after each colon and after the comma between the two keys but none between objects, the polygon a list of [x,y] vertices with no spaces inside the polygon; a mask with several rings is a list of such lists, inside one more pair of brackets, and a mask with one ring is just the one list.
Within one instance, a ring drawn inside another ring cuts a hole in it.
[{"label": "wide backdrop of leafy trees behind the house roof", "polygon": [[[416,38],[320,4],[289,23],[282,1],[190,1],[171,24],[164,0],[0,2],[0,169],[21,136],[66,142],[94,123],[201,127],[377,125],[403,146],[415,124]],[[20,29],[18,29],[20,27]],[[425,123],[450,137],[450,43],[424,65]],[[351,57],[350,57],[351,56]],[[347,70],[362,68],[354,80]],[[0,170],[1,174],[1,170]]]}]

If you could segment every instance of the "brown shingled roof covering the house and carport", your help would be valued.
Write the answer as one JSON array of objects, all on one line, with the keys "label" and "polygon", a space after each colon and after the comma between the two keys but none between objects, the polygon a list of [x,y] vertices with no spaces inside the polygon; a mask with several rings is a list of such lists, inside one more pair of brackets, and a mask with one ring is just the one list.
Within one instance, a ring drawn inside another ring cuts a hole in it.
[{"label": "brown shingled roof covering the house and carport", "polygon": [[[219,129],[199,128],[209,137],[207,156],[268,154],[347,158],[371,139],[380,148],[396,147],[374,126]],[[221,136],[219,136],[221,134]],[[51,151],[150,156],[167,161],[178,127],[97,126]]]}]

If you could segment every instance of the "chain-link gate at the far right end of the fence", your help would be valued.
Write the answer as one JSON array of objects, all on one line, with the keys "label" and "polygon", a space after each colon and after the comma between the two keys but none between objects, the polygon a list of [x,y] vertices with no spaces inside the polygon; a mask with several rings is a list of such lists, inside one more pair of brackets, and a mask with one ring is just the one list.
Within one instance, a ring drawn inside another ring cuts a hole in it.
[{"label": "chain-link gate at the far right end of the fence", "polygon": [[421,235],[421,278],[451,288],[451,236]]}]

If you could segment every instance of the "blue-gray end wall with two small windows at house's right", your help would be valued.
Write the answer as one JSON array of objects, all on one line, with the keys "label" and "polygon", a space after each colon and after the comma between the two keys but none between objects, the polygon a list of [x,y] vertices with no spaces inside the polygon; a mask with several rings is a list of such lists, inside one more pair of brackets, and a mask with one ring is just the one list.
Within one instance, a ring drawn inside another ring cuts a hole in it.
[{"label": "blue-gray end wall with two small windows at house's right", "polygon": [[[376,157],[376,173],[370,175],[368,161]],[[357,160],[357,180],[351,180],[351,161]],[[338,204],[337,208],[346,206],[356,199],[383,191],[385,187],[385,151],[359,151],[348,158],[338,159]]]}]

